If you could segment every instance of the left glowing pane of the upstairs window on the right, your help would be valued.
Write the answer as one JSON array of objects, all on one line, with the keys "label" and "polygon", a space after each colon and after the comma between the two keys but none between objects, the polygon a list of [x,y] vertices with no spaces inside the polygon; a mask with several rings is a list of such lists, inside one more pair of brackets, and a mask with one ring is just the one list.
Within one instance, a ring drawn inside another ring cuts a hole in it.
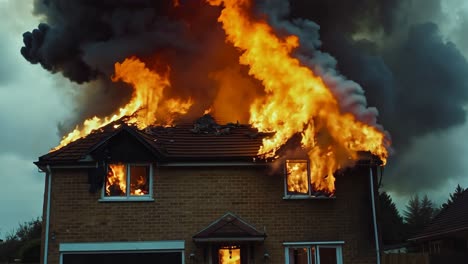
[{"label": "left glowing pane of the upstairs window on the right", "polygon": [[307,160],[287,160],[288,193],[309,193]]}]

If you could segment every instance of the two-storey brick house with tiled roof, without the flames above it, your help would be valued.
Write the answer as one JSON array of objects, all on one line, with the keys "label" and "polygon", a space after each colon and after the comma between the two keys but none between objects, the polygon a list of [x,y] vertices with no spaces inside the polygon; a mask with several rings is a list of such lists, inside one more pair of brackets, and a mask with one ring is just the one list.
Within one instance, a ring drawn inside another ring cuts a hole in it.
[{"label": "two-storey brick house with tiled roof, without the flames above it", "polygon": [[47,262],[376,262],[379,159],[320,190],[306,152],[262,158],[271,135],[206,121],[115,122],[40,157]]}]

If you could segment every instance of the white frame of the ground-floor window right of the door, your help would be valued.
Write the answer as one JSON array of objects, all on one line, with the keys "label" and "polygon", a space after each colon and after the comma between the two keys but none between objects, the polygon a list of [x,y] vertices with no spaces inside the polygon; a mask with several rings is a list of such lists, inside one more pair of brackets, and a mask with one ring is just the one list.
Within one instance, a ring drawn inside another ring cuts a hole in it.
[{"label": "white frame of the ground-floor window right of the door", "polygon": [[[285,264],[289,263],[289,250],[292,248],[307,248],[307,263],[312,264],[311,258],[314,258],[315,264],[320,264],[320,248],[334,248],[336,249],[336,261],[337,264],[343,264],[343,249],[342,246],[344,241],[320,241],[320,242],[285,242],[284,246],[284,257]],[[311,248],[315,247],[316,254],[311,257]]]}]

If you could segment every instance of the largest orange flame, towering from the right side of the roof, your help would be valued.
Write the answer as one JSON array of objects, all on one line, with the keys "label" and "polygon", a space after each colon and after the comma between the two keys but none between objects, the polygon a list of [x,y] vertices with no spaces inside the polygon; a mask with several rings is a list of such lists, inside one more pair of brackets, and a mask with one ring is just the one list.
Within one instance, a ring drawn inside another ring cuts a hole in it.
[{"label": "largest orange flame, towering from the right side of the roof", "polygon": [[385,163],[385,135],[350,114],[341,113],[337,100],[323,80],[301,65],[291,52],[299,46],[297,36],[280,38],[264,21],[249,17],[249,0],[208,0],[224,4],[218,18],[227,40],[242,51],[239,62],[263,83],[266,96],[250,109],[250,122],[260,131],[274,131],[263,140],[259,154],[274,157],[293,135],[302,134],[309,149],[311,181],[317,190],[333,192],[333,173],[356,160],[358,151],[370,151]]}]

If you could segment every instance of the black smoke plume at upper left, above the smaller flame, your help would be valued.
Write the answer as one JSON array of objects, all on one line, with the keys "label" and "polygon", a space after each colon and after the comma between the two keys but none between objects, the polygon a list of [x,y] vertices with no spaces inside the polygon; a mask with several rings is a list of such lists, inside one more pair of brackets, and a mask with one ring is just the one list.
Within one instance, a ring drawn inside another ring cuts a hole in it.
[{"label": "black smoke plume at upper left, above the smaller flame", "polygon": [[71,81],[108,76],[128,56],[147,56],[158,47],[181,46],[181,21],[165,16],[170,1],[36,0],[46,23],[23,34],[21,54],[31,63]]}]

